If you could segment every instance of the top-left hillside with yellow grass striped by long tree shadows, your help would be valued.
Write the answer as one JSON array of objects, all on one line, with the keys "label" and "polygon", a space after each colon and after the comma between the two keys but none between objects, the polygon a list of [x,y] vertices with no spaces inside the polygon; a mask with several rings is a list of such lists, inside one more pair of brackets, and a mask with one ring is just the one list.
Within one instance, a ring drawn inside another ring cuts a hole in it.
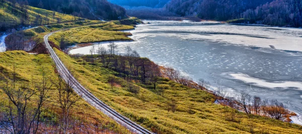
[{"label": "top-left hillside with yellow grass striped by long tree shadows", "polygon": [[73,22],[78,17],[64,15],[61,13],[12,4],[7,1],[0,1],[0,31],[21,26],[41,26],[57,23]]}]

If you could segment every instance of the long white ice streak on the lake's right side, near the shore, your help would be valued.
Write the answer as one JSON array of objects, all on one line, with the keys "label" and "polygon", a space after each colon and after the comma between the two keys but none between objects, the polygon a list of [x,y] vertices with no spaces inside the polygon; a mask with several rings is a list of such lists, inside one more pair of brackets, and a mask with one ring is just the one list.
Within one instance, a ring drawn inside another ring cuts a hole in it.
[{"label": "long white ice streak on the lake's right side, near the shore", "polygon": [[232,73],[230,74],[234,79],[238,79],[244,81],[245,83],[251,83],[255,86],[260,87],[267,87],[267,88],[288,88],[288,87],[296,87],[302,89],[302,82],[298,81],[276,81],[276,82],[269,82],[263,79],[258,79],[251,77],[247,74],[243,73]]}]

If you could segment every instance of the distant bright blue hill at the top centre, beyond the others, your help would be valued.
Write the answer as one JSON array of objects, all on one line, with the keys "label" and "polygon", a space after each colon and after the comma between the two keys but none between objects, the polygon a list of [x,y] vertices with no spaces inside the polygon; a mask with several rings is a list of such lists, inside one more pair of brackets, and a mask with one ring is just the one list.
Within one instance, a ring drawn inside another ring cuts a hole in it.
[{"label": "distant bright blue hill at the top centre, beyond the others", "polygon": [[121,6],[163,8],[170,0],[108,0]]}]

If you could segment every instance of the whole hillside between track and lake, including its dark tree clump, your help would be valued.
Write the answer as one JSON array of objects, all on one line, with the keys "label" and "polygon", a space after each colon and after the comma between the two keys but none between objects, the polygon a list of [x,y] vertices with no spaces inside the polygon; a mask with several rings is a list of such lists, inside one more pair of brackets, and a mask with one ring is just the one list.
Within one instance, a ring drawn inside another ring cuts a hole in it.
[{"label": "whole hillside between track and lake, including its dark tree clump", "polygon": [[[157,67],[146,58],[135,60],[131,56],[132,61],[131,57],[104,54],[72,58],[55,51],[73,76],[100,100],[157,133],[300,133],[302,130],[296,124],[215,104],[212,94],[167,78],[159,77],[155,89],[150,71]],[[136,68],[136,74],[135,70],[129,70],[129,63],[135,61],[140,68]]]}]

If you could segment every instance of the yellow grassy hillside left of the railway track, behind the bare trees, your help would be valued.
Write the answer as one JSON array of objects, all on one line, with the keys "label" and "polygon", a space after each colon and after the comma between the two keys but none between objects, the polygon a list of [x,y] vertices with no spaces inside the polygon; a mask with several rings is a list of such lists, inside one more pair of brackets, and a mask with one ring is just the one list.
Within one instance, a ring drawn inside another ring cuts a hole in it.
[{"label": "yellow grassy hillside left of the railway track, behind the bare trees", "polygon": [[[61,133],[61,111],[58,99],[58,89],[55,84],[58,82],[58,74],[55,71],[55,65],[49,55],[39,54],[32,55],[24,51],[9,51],[0,53],[0,133],[3,132],[4,124],[8,124],[10,108],[8,96],[4,93],[4,84],[7,78],[16,73],[17,87],[24,87],[26,84],[29,88],[31,83],[40,84],[43,78],[47,78],[45,84],[51,86],[46,94],[46,100],[42,106],[40,126],[38,133]],[[14,71],[15,70],[15,71]],[[12,93],[18,90],[12,90]],[[38,91],[30,100],[28,100],[27,115],[34,110],[38,103]],[[17,98],[16,98],[17,99]],[[23,102],[23,101],[21,101]],[[15,115],[15,108],[14,115]],[[8,120],[7,120],[8,119]],[[68,123],[68,132],[70,133],[131,133],[125,127],[119,125],[114,120],[106,116],[95,107],[89,105],[84,99],[80,99],[72,108],[70,108],[70,117]],[[11,127],[9,125],[9,127]]]}]

